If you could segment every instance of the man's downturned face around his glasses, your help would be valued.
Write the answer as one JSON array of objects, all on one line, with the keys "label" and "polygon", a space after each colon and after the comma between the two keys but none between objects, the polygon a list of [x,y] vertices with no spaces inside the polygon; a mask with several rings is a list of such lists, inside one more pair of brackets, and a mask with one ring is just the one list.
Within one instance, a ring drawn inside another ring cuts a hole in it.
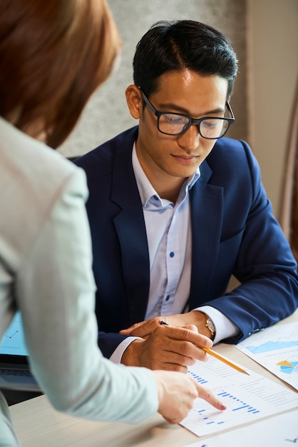
[{"label": "man's downturned face around his glasses", "polygon": [[[135,87],[136,89],[136,87]],[[158,91],[149,96],[158,111],[172,111],[199,119],[224,116],[227,80],[220,76],[201,76],[193,71],[175,71],[160,77]],[[131,112],[131,109],[130,109]],[[139,134],[136,151],[145,174],[156,188],[158,184],[183,184],[205,160],[216,140],[200,136],[197,126],[183,135],[171,136],[158,131],[157,116],[140,95]]]}]

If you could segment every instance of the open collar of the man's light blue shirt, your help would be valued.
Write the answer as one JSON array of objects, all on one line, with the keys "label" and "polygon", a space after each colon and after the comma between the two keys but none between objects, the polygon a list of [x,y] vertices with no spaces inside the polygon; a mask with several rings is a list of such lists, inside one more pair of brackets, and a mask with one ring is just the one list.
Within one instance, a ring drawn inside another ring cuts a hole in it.
[{"label": "open collar of the man's light blue shirt", "polygon": [[[138,161],[137,152],[135,150],[135,143],[133,144],[132,163],[133,163],[133,172],[135,174],[135,181],[137,182],[138,191],[140,194],[140,200],[142,201],[143,207],[145,208],[147,206],[148,201],[151,199],[151,197],[154,197],[155,200],[158,200],[161,206],[165,206],[166,204],[168,204],[169,203],[168,201],[165,201],[160,198],[158,193],[150,184],[150,181],[145,175],[142,166],[140,166],[140,161]],[[183,184],[183,188],[181,189],[181,191],[183,189],[185,190],[184,195],[186,195],[187,192],[190,189],[192,189],[192,186],[194,186],[195,182],[199,178],[200,178],[200,167],[198,166],[195,174],[193,174],[191,177],[188,177],[185,180],[185,183]]]}]

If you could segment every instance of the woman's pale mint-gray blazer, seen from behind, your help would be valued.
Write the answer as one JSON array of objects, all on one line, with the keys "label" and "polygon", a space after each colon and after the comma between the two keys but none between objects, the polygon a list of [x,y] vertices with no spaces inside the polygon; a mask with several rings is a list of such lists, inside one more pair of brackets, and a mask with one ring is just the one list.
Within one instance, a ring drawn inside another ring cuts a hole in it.
[{"label": "woman's pale mint-gray blazer, seen from behind", "polygon": [[[0,338],[19,309],[56,409],[138,422],[158,408],[155,379],[98,350],[87,196],[83,170],[0,119]],[[0,393],[0,446],[17,442]]]}]

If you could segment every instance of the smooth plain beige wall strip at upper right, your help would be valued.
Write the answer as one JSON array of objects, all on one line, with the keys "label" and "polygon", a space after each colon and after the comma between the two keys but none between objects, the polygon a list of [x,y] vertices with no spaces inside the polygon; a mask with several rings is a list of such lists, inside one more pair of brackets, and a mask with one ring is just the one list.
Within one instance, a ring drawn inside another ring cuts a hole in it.
[{"label": "smooth plain beige wall strip at upper right", "polygon": [[298,0],[247,0],[250,144],[279,218],[298,81]]}]

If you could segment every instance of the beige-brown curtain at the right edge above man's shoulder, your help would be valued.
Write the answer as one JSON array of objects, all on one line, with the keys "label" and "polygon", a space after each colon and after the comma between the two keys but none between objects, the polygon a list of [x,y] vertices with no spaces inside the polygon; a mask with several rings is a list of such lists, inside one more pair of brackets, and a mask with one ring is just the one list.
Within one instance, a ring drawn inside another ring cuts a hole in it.
[{"label": "beige-brown curtain at the right edge above man's shoulder", "polygon": [[298,261],[298,86],[289,136],[280,224]]}]

